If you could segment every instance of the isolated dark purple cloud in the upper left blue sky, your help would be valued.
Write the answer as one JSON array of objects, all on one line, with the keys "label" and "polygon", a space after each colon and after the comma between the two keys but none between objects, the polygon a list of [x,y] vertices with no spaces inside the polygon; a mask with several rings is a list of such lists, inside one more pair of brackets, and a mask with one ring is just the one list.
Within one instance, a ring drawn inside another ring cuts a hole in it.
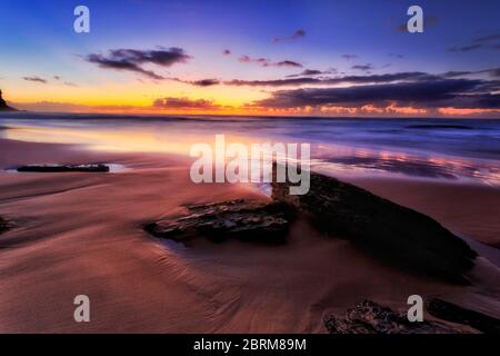
[{"label": "isolated dark purple cloud in the upper left blue sky", "polygon": [[141,65],[170,67],[174,63],[187,62],[191,56],[188,56],[181,48],[171,47],[156,50],[114,49],[110,50],[108,56],[90,53],[84,59],[103,69],[132,71],[159,80],[164,78],[151,70],[143,69]]}]

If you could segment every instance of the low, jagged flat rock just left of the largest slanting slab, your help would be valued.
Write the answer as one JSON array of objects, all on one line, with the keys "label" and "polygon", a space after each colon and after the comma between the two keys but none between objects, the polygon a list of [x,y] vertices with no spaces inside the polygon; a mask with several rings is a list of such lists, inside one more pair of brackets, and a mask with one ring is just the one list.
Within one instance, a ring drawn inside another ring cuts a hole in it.
[{"label": "low, jagged flat rock just left of the largest slanting slab", "polygon": [[184,240],[206,236],[211,240],[239,238],[282,243],[287,238],[289,208],[280,202],[251,202],[242,199],[188,207],[189,215],[144,226],[156,237]]}]

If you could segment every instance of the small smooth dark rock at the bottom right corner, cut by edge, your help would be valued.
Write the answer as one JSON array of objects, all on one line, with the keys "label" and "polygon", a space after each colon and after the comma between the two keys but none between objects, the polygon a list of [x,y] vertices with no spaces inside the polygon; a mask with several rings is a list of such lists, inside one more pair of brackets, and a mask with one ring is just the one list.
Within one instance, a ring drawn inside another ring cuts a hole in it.
[{"label": "small smooth dark rock at the bottom right corner, cut by edge", "polygon": [[464,324],[486,334],[500,334],[500,320],[452,303],[433,298],[427,303],[432,316],[451,323]]}]

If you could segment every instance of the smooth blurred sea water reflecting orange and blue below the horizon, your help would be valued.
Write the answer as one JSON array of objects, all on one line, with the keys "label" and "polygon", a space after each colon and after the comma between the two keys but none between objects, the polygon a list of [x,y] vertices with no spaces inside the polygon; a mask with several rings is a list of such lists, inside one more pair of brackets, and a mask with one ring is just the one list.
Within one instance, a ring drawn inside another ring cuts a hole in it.
[{"label": "smooth blurred sea water reflecting orange and blue below the horizon", "polygon": [[196,142],[310,142],[337,176],[470,180],[500,187],[500,119],[139,117],[0,113],[0,137],[92,150],[189,155]]}]

